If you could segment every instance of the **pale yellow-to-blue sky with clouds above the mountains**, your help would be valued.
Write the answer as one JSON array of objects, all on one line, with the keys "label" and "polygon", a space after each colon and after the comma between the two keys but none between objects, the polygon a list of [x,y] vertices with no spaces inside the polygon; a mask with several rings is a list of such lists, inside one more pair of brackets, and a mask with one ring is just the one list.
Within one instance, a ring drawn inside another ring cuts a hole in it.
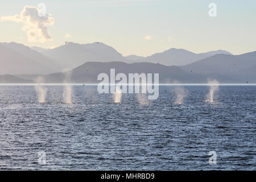
[{"label": "pale yellow-to-blue sky with clouds above the mountains", "polygon": [[[39,3],[46,5],[47,18],[28,20]],[[216,16],[208,14],[210,3],[216,4]],[[170,48],[256,51],[255,0],[0,0],[0,5],[0,42],[43,48],[102,42],[123,56]]]}]

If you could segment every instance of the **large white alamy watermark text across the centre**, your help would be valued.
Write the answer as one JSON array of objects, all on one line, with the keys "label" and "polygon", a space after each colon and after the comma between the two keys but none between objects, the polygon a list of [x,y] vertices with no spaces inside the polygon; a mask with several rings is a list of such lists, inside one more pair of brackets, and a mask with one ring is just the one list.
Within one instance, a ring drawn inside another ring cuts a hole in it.
[{"label": "large white alamy watermark text across the centre", "polygon": [[[110,69],[110,77],[107,73],[100,73],[97,80],[101,81],[97,87],[98,93],[148,93],[148,100],[156,100],[159,97],[159,73],[129,73],[127,80],[125,73],[115,75],[115,69]],[[115,81],[118,83],[115,84]]]}]

